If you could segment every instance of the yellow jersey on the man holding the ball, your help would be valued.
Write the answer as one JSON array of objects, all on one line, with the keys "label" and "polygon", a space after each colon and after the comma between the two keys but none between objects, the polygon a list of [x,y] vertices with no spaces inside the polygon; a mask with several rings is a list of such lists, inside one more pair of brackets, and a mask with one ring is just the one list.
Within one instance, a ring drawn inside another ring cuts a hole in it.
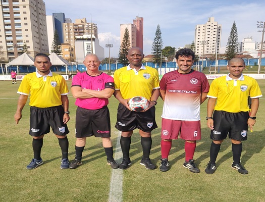
[{"label": "yellow jersey on the man holding the ball", "polygon": [[143,65],[138,71],[131,69],[130,65],[116,70],[114,82],[115,89],[121,91],[124,99],[134,96],[150,99],[152,90],[160,88],[157,70]]}]

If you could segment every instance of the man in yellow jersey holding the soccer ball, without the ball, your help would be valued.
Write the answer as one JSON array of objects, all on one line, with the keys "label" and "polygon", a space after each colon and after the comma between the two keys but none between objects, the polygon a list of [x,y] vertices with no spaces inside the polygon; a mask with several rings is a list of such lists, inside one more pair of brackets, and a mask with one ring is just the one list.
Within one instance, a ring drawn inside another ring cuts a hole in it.
[{"label": "man in yellow jersey holding the soccer ball, without the ball", "polygon": [[[141,48],[129,49],[127,59],[129,65],[114,72],[115,97],[119,100],[116,128],[122,131],[121,148],[123,160],[120,169],[131,165],[129,158],[131,136],[138,128],[141,136],[143,157],[140,164],[147,169],[155,169],[149,155],[152,145],[151,131],[157,128],[155,122],[156,100],[159,96],[159,79],[156,69],[143,66],[144,54]],[[134,96],[143,96],[149,100],[149,107],[142,112],[134,112],[128,106],[128,101]]]}]

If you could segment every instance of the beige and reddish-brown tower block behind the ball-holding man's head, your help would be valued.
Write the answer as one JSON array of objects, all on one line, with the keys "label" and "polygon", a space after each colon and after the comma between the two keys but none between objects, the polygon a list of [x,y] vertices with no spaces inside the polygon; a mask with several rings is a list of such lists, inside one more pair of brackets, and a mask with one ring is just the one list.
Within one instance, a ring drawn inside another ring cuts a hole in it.
[{"label": "beige and reddish-brown tower block behind the ball-holding man's head", "polygon": [[120,34],[121,34],[121,44],[127,27],[130,36],[130,46],[131,47],[140,47],[143,49],[143,18],[136,16],[136,19],[133,20],[133,24],[121,24],[120,25]]}]

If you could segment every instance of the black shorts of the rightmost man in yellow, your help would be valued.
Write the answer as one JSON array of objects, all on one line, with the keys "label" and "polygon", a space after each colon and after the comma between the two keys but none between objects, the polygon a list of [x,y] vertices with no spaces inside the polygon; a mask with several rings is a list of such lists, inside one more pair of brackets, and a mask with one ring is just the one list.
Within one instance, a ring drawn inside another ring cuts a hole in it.
[{"label": "black shorts of the rightmost man in yellow", "polygon": [[210,138],[213,140],[229,138],[243,141],[247,139],[247,120],[248,112],[230,113],[225,111],[214,111],[214,129],[210,132]]}]

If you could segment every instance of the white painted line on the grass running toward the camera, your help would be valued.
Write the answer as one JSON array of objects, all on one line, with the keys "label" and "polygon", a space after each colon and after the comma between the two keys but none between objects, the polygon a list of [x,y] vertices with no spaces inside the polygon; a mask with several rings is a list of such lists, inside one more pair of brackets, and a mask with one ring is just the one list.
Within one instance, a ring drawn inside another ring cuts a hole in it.
[{"label": "white painted line on the grass running toward the camera", "polygon": [[[120,145],[121,132],[119,132],[116,143],[115,161],[117,163],[122,159],[122,149]],[[122,201],[122,185],[123,185],[123,170],[112,169],[112,178],[109,193],[109,202],[121,202]]]}]

